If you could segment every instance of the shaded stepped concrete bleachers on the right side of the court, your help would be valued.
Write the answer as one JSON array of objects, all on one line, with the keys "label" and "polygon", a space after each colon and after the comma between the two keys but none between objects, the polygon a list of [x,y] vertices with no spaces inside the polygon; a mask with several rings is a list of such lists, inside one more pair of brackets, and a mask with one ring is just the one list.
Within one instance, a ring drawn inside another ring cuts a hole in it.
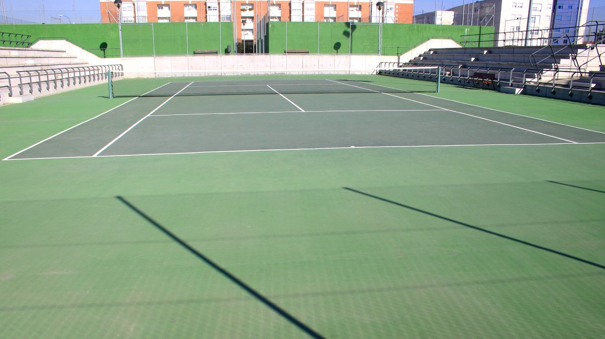
[{"label": "shaded stepped concrete bleachers on the right side of the court", "polygon": [[[555,94],[554,87],[560,93],[567,87],[566,96],[585,90],[589,93],[582,95],[592,100],[594,95],[603,98],[598,89],[605,92],[605,74],[599,73],[605,71],[599,49],[605,50],[605,45],[556,46],[554,55],[545,46],[431,48],[402,66],[442,66],[443,83],[485,88],[485,83],[474,81],[473,75],[491,73],[495,75],[491,88],[501,92],[523,93],[528,87],[551,86],[550,92]],[[531,92],[545,90],[532,88]]]}]

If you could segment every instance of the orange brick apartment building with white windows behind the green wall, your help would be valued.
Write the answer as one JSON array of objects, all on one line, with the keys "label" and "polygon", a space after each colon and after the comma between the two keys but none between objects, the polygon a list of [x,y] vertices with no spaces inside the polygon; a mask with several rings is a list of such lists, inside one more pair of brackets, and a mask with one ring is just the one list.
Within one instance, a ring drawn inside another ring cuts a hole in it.
[{"label": "orange brick apartment building with white windows behind the green wall", "polygon": [[[122,0],[122,23],[233,21],[238,40],[252,42],[267,21],[411,24],[413,0]],[[120,20],[113,0],[100,0],[102,22]]]}]

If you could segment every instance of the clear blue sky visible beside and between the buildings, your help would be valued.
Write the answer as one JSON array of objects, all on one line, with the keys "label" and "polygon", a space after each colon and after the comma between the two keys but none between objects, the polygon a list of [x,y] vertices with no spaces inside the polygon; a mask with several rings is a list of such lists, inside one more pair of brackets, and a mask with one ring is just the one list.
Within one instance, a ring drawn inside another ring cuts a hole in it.
[{"label": "clear blue sky visible beside and between the buildings", "polygon": [[[99,22],[100,7],[99,0],[0,0],[4,2],[7,17],[15,17],[26,21],[40,22],[41,19],[47,23],[60,22]],[[471,0],[465,0],[468,3]],[[462,0],[416,0],[414,2],[414,14],[448,9],[462,5]],[[590,8],[600,7],[594,11],[593,19],[605,19],[605,0],[590,0]],[[589,12],[592,14],[592,11]],[[59,17],[62,14],[62,17]],[[589,14],[589,16],[590,16]],[[11,24],[12,22],[9,22]]]}]

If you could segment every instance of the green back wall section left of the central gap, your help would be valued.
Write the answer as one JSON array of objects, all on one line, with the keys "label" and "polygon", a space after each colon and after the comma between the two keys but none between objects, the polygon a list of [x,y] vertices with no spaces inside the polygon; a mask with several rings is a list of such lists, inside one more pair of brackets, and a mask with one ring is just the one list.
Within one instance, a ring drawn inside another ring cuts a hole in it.
[{"label": "green back wall section left of the central gap", "polygon": [[[0,25],[0,31],[29,34],[31,42],[67,38],[97,55],[103,55],[99,48],[105,42],[108,57],[120,55],[117,24]],[[122,24],[123,52],[126,56],[185,55],[200,49],[224,52],[227,45],[233,45],[233,40],[231,22]]]}]

